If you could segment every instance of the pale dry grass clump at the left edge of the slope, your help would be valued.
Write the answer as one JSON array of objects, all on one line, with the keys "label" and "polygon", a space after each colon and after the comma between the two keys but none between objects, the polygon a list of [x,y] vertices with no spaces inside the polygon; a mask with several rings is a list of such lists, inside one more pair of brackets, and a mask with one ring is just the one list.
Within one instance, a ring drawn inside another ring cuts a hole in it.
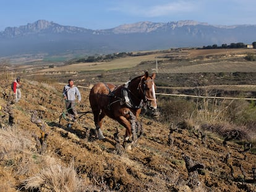
[{"label": "pale dry grass clump at the left edge of the slope", "polygon": [[[28,132],[18,127],[6,127],[0,129],[1,165],[5,170],[12,170],[13,177],[24,177],[33,172],[38,172],[40,166],[34,156],[36,149],[30,140]],[[1,178],[3,181],[9,178]],[[10,184],[6,183],[9,191]]]}]

